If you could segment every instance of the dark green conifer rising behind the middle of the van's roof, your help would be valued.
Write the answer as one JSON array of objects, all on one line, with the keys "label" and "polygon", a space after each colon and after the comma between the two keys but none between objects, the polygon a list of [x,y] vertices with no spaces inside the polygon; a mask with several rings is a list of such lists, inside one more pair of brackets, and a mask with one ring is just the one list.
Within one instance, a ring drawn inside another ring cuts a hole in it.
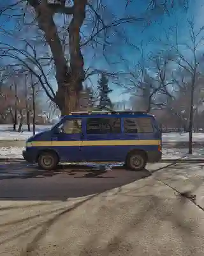
[{"label": "dark green conifer rising behind the middle of the van's roof", "polygon": [[99,109],[112,108],[112,102],[108,97],[110,92],[113,92],[108,86],[108,78],[102,74],[98,81],[98,90],[99,90]]}]

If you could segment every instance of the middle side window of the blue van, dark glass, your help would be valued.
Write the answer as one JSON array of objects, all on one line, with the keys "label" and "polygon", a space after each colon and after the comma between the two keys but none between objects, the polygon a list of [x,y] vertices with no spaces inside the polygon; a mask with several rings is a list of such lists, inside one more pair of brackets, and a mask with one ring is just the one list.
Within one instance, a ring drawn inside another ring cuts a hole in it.
[{"label": "middle side window of the blue van, dark glass", "polygon": [[87,118],[87,134],[120,132],[120,118]]}]

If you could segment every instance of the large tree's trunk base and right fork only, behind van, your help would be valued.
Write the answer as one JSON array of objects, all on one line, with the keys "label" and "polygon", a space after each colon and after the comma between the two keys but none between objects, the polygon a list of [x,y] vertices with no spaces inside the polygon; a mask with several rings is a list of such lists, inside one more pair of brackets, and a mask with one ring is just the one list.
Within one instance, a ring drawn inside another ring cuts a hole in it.
[{"label": "large tree's trunk base and right fork only, behind van", "polygon": [[80,28],[85,19],[87,0],[74,0],[73,2],[75,8],[68,28],[70,67],[62,84],[61,79],[57,79],[56,103],[61,110],[61,115],[69,115],[70,111],[78,109],[82,82],[85,79],[84,59],[80,50]]}]

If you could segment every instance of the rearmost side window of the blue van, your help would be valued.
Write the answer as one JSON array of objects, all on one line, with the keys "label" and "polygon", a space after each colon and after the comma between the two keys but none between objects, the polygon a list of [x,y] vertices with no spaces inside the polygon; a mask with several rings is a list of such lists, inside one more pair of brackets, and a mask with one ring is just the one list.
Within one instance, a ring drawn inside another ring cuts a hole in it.
[{"label": "rearmost side window of the blue van", "polygon": [[125,133],[152,133],[151,118],[124,118]]}]

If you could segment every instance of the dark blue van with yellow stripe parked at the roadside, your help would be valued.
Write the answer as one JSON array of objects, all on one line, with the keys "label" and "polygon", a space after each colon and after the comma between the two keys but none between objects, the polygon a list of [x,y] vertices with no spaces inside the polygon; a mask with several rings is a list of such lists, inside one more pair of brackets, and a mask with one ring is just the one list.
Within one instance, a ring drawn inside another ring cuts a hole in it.
[{"label": "dark blue van with yellow stripe parked at the roadside", "polygon": [[147,162],[161,159],[161,132],[149,113],[73,112],[29,138],[23,156],[43,170],[80,162],[125,163],[142,170]]}]

